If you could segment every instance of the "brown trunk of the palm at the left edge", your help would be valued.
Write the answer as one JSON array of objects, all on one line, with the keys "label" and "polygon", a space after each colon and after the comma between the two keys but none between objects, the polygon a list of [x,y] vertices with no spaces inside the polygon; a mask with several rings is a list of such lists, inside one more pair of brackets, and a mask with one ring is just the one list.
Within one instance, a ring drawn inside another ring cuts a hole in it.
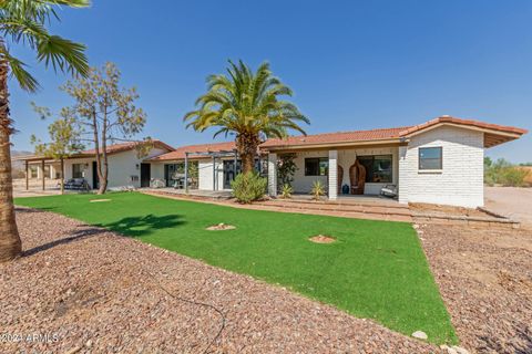
[{"label": "brown trunk of the palm at the left edge", "polygon": [[9,261],[22,252],[13,207],[13,183],[11,179],[12,133],[9,117],[8,64],[0,62],[0,262]]}]

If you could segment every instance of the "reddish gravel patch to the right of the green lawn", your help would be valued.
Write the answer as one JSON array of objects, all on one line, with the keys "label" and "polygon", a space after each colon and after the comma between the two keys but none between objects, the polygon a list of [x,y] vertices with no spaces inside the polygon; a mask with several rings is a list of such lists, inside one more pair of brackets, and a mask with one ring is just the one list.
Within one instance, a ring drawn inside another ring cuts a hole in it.
[{"label": "reddish gravel patch to the right of the green lawn", "polygon": [[420,226],[461,345],[532,353],[532,230]]}]

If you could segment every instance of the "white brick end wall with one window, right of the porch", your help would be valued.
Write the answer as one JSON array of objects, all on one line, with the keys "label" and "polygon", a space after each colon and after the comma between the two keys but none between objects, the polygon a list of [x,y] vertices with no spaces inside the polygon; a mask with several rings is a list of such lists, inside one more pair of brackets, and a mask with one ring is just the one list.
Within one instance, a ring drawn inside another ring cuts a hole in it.
[{"label": "white brick end wall with one window, right of the porch", "polygon": [[[418,168],[419,147],[442,147],[442,169]],[[441,126],[411,137],[401,147],[399,201],[462,207],[483,205],[483,133]]]}]

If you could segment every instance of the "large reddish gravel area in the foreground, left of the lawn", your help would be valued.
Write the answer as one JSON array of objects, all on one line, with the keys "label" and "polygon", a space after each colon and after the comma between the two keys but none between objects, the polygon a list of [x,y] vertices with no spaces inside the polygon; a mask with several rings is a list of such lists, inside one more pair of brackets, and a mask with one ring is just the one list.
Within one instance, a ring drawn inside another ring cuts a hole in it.
[{"label": "large reddish gravel area in the foreground, left of the lawn", "polygon": [[17,218],[25,253],[0,264],[1,353],[439,351],[280,287],[59,215],[19,209]]}]

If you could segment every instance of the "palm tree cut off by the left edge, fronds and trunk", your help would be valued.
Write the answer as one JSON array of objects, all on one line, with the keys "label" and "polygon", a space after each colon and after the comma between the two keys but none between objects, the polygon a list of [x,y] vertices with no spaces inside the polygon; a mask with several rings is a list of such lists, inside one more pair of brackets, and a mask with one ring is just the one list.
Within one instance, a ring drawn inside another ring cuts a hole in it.
[{"label": "palm tree cut off by the left edge, fronds and trunk", "polygon": [[13,133],[9,115],[8,76],[28,92],[39,88],[38,81],[25,70],[25,64],[11,55],[12,44],[28,45],[37,52],[37,60],[55,70],[85,75],[89,64],[85,46],[48,32],[52,19],[59,19],[54,8],[82,8],[89,0],[2,0],[0,1],[0,262],[21,252],[17,230],[11,180],[10,135]]}]

